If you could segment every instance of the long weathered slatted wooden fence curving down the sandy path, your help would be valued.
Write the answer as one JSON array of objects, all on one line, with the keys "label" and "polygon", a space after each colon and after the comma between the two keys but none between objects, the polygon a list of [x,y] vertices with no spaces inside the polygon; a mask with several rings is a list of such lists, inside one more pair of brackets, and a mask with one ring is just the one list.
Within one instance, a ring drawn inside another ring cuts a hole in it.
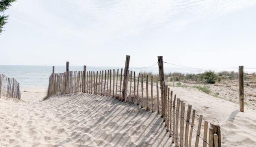
[{"label": "long weathered slatted wooden fence curving down the sandy path", "polygon": [[86,66],[83,71],[69,71],[67,66],[65,73],[54,73],[53,68],[49,78],[48,96],[83,92],[134,103],[152,113],[161,113],[166,131],[172,137],[175,147],[221,147],[220,127],[208,124],[202,115],[197,117],[191,105],[186,105],[182,99],[177,98],[164,81],[161,58],[158,63],[160,77],[143,73],[136,75],[135,71],[129,71],[128,68],[124,73],[123,69],[86,71]]}]

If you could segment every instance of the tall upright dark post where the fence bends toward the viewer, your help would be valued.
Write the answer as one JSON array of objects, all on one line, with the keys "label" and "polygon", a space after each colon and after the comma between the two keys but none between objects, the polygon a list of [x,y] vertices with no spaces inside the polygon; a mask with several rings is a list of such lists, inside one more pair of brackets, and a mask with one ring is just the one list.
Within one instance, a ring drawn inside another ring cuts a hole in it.
[{"label": "tall upright dark post where the fence bends toward the viewer", "polygon": [[158,56],[158,69],[159,69],[159,80],[160,80],[160,88],[161,88],[161,117],[163,117],[163,93],[164,93],[164,87],[163,87],[163,81],[165,80],[164,74],[163,74],[163,56]]}]

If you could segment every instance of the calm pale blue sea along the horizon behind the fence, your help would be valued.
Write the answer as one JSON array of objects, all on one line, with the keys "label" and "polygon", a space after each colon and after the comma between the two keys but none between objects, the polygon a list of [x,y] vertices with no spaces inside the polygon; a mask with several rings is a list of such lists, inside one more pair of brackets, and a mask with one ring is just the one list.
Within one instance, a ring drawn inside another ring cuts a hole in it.
[{"label": "calm pale blue sea along the horizon behind the fence", "polygon": [[[121,69],[123,67],[87,67],[87,71],[99,71],[105,69]],[[130,70],[136,73],[147,71],[152,73],[158,73],[158,67],[149,67],[145,69],[136,69],[139,67],[130,67]],[[55,73],[65,72],[65,66],[55,66]],[[82,71],[82,66],[70,66],[70,71]],[[180,73],[203,73],[204,71],[197,69],[188,69],[185,67],[164,67],[165,73],[180,72]],[[226,68],[226,69],[211,69],[218,71],[236,71],[238,68]],[[256,68],[244,69],[247,73],[256,72]],[[5,74],[10,78],[15,78],[21,87],[47,87],[49,76],[52,73],[52,66],[35,66],[35,65],[0,65],[0,74]],[[120,71],[119,71],[120,74]]]}]

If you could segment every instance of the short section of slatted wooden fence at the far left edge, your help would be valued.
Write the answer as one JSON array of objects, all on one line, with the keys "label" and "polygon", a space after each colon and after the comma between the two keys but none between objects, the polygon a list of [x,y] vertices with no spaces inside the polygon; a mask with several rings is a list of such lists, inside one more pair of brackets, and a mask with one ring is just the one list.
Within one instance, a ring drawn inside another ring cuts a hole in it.
[{"label": "short section of slatted wooden fence at the far left edge", "polygon": [[20,100],[20,83],[14,78],[8,78],[4,74],[0,75],[0,98],[17,98]]}]

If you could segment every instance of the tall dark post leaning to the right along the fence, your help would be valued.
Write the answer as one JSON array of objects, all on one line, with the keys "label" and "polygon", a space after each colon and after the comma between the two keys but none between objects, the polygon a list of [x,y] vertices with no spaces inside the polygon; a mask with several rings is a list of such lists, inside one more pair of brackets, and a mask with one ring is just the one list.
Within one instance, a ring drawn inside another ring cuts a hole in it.
[{"label": "tall dark post leaning to the right along the fence", "polygon": [[126,55],[125,68],[124,68],[124,83],[122,88],[122,101],[126,98],[127,84],[128,84],[128,69],[130,64],[130,56]]}]

